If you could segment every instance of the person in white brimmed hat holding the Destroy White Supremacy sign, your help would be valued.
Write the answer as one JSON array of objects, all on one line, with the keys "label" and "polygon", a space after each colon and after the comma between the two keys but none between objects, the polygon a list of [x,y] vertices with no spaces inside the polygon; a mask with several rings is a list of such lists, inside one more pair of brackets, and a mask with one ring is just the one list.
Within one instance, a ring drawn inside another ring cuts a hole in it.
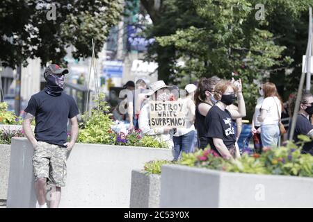
[{"label": "person in white brimmed hat holding the Destroy White Supremacy sign", "polygon": [[[159,80],[155,83],[150,84],[150,92],[147,92],[147,95],[150,96],[150,102],[166,102],[170,100],[170,92],[168,90],[168,85],[166,85],[162,80]],[[172,142],[172,128],[163,124],[163,121],[152,123],[150,121],[150,109],[152,103],[147,103],[141,109],[141,114],[139,115],[138,125],[143,135],[152,135],[157,137],[162,142],[166,142],[169,148],[173,147]],[[178,108],[178,105],[174,107],[171,103],[156,103],[154,110],[152,111],[162,111],[164,109],[170,109],[174,112],[175,108]],[[161,125],[162,123],[162,125]],[[153,125],[153,126],[152,126]]]}]

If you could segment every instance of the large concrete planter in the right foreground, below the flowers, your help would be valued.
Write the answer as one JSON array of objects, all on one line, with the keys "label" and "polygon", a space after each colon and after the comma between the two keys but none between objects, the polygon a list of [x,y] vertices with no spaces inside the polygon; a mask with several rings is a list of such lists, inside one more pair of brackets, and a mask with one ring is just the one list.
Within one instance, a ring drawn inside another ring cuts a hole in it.
[{"label": "large concrete planter in the right foreground, below the flowers", "polygon": [[160,207],[313,207],[313,178],[162,167]]}]

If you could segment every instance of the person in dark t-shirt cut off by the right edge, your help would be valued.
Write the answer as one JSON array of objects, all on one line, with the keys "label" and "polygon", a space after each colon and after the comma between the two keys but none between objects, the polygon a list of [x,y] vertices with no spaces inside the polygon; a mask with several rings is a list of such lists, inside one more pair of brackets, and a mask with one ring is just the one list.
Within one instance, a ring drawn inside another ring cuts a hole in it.
[{"label": "person in dark t-shirt cut off by the right edge", "polygon": [[[296,100],[296,96],[294,101]],[[293,107],[291,107],[293,108]],[[291,112],[292,113],[292,112]],[[308,117],[313,114],[313,96],[310,92],[305,92],[300,103],[300,110],[297,115],[296,128],[294,129],[294,142],[298,142],[298,135],[307,135],[313,137],[313,126]],[[291,129],[291,121],[289,122],[289,129]],[[288,137],[290,132],[288,132]],[[301,153],[310,153],[313,155],[313,141],[304,144]]]}]

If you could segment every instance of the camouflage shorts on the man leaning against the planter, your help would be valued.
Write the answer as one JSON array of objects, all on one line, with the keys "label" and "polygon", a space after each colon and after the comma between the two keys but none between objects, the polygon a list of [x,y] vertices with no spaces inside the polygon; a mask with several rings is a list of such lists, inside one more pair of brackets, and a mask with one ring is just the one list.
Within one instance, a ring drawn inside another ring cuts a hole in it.
[{"label": "camouflage shorts on the man leaning against the planter", "polygon": [[35,179],[47,178],[49,185],[64,187],[66,179],[67,148],[38,142],[33,153]]}]

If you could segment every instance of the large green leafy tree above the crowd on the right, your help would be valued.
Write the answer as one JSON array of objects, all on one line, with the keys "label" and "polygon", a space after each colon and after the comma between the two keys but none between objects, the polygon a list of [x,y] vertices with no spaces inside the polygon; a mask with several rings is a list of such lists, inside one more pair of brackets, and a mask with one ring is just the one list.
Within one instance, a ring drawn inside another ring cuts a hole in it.
[{"label": "large green leafy tree above the crowd on the right", "polygon": [[[266,9],[261,20],[255,18],[257,3],[263,3]],[[193,76],[230,78],[234,72],[243,79],[251,115],[257,97],[253,80],[284,76],[284,70],[294,65],[293,51],[287,49],[288,36],[279,33],[282,20],[275,21],[275,15],[289,16],[284,21],[296,25],[310,3],[309,0],[168,0],[163,2],[167,11],[161,15],[161,22],[151,28],[151,33],[159,31],[155,35],[157,43],[151,49],[171,49],[167,55],[171,69],[161,75],[176,76],[176,83],[185,84]],[[185,27],[179,23],[182,21]],[[289,33],[294,31],[289,28]],[[158,50],[150,51],[151,56],[155,52]],[[184,60],[185,66],[177,67],[178,60]]]}]

